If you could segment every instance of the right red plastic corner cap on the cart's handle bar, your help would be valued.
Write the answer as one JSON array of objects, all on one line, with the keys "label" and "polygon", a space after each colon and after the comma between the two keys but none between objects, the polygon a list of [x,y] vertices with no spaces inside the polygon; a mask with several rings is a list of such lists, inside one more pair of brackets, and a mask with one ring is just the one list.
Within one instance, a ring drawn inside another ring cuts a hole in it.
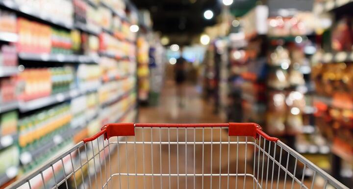
[{"label": "right red plastic corner cap on the cart's handle bar", "polygon": [[259,126],[256,123],[229,123],[229,136],[252,136],[256,138],[256,129]]}]

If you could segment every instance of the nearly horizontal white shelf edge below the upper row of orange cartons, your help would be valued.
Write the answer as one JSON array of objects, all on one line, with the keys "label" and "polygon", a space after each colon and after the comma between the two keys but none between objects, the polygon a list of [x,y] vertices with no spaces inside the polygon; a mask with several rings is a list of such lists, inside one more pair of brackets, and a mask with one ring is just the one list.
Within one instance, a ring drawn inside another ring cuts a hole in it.
[{"label": "nearly horizontal white shelf edge below the upper row of orange cartons", "polygon": [[98,63],[98,56],[76,54],[32,54],[19,53],[19,58],[28,61]]}]

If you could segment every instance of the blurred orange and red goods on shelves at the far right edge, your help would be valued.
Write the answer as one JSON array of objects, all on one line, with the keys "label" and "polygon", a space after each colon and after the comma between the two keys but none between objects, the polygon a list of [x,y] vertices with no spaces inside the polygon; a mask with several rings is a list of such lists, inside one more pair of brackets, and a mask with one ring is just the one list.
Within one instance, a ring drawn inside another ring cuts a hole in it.
[{"label": "blurred orange and red goods on shelves at the far right edge", "polygon": [[[332,6],[325,6],[325,3]],[[318,52],[312,58],[315,83],[315,124],[330,143],[332,174],[353,187],[353,30],[350,1],[318,2],[316,8],[330,13],[332,26],[320,33]],[[332,10],[331,10],[332,9]],[[331,12],[328,12],[330,11]]]}]

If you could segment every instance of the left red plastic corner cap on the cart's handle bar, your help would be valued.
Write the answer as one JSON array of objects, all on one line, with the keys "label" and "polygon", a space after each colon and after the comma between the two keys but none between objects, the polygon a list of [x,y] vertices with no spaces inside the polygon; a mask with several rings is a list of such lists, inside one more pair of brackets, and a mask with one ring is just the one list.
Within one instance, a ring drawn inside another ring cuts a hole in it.
[{"label": "left red plastic corner cap on the cart's handle bar", "polygon": [[104,139],[112,136],[134,136],[134,123],[110,123],[105,125],[101,130],[105,130]]}]

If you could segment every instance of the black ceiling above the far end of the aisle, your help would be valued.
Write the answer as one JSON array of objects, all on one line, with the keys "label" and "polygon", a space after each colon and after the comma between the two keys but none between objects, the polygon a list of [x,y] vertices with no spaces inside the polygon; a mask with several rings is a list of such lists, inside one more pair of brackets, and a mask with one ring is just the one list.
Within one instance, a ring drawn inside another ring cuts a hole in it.
[{"label": "black ceiling above the far end of the aisle", "polygon": [[[153,30],[168,36],[196,36],[204,27],[216,24],[221,12],[220,0],[132,0],[139,9],[151,12]],[[203,18],[203,12],[214,13],[211,20]],[[177,38],[177,37],[176,37]],[[171,42],[177,39],[172,39]],[[190,39],[189,39],[190,40]]]}]

